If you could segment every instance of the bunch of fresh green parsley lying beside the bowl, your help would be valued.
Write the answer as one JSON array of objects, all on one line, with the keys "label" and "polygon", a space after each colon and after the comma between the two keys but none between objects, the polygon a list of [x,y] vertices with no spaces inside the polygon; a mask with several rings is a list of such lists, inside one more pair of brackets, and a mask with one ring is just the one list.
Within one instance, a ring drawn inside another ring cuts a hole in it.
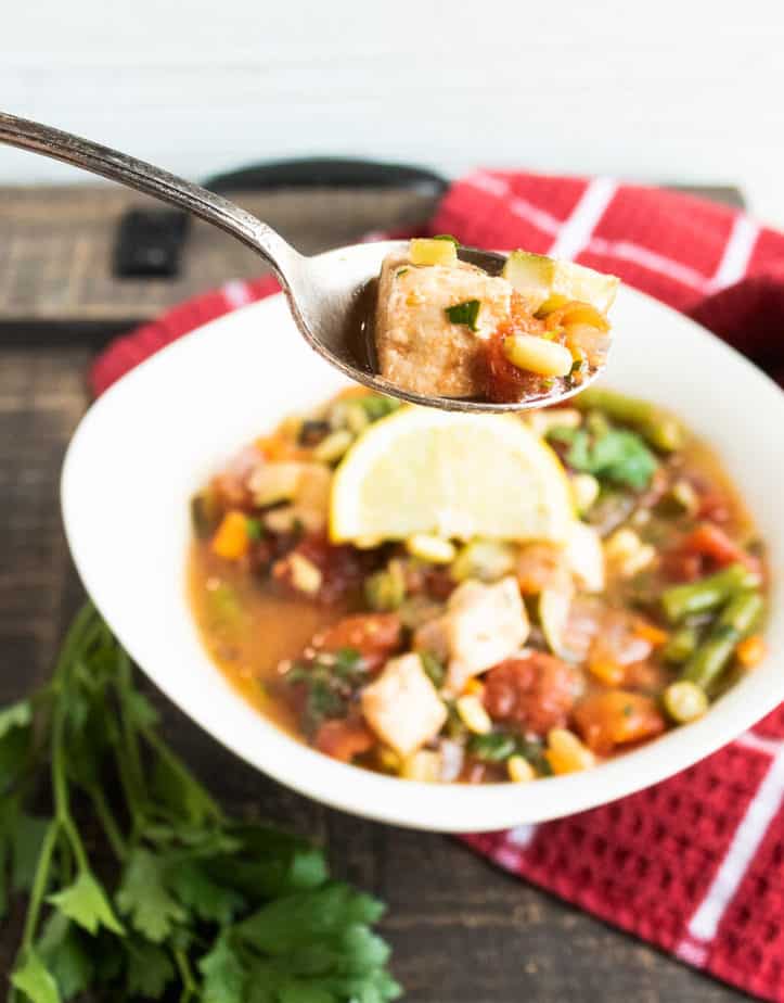
[{"label": "bunch of fresh green parsley lying beside the bowl", "polygon": [[[0,709],[0,915],[28,892],[9,1003],[384,1003],[400,994],[381,903],[306,840],[226,816],[158,734],[92,607],[52,681]],[[31,814],[49,767],[52,814]],[[112,796],[107,795],[112,791]],[[113,864],[98,866],[78,797]],[[173,993],[173,995],[172,995]]]}]

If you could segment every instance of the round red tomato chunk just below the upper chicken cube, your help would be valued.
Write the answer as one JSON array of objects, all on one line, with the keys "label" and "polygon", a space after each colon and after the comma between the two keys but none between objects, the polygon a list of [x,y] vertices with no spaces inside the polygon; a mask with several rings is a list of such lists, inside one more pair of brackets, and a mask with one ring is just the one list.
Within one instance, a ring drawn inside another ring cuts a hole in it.
[{"label": "round red tomato chunk just below the upper chicken cube", "polygon": [[484,701],[496,721],[543,736],[550,728],[566,724],[576,689],[571,665],[552,655],[531,651],[522,658],[509,658],[487,673]]}]

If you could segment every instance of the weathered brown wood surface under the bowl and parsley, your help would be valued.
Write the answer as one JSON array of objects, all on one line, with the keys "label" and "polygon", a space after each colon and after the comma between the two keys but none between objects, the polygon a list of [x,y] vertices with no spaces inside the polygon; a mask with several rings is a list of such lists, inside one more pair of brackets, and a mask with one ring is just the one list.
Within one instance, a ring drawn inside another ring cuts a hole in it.
[{"label": "weathered brown wood surface under the bowl and parsley", "polygon": [[[177,282],[113,280],[116,220],[141,201],[112,188],[0,190],[0,701],[49,674],[81,600],[57,479],[89,403],[85,371],[97,344],[195,291],[259,270],[239,244],[196,226]],[[430,208],[421,195],[368,191],[243,201],[305,250],[349,242]],[[364,822],[292,793],[155,699],[167,735],[232,812],[261,813],[325,840],[335,869],[388,903],[383,932],[412,1003],[744,999],[498,872],[451,838]],[[0,927],[0,994],[20,918],[17,910]]]}]

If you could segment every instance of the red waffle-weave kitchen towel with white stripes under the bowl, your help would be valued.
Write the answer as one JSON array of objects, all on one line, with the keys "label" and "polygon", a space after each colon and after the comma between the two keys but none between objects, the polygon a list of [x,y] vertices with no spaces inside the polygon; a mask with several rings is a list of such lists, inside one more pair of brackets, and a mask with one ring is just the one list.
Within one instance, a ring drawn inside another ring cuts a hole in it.
[{"label": "red waffle-weave kitchen towel with white stripes under the bowl", "polygon": [[[609,178],[483,170],[452,186],[428,230],[612,271],[784,383],[784,234],[744,213]],[[173,339],[275,289],[271,279],[230,282],[118,339],[92,369],[95,393]],[[501,867],[784,1003],[784,704],[638,795],[465,838]]]}]

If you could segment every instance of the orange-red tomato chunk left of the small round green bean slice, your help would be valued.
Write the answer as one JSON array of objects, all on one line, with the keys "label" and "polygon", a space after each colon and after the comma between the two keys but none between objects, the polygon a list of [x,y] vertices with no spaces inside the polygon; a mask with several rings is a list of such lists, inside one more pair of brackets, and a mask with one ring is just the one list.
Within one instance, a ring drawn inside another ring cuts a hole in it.
[{"label": "orange-red tomato chunk left of the small round green bean slice", "polygon": [[575,722],[586,745],[599,756],[616,746],[660,735],[665,719],[651,697],[611,689],[587,697],[575,710]]}]

